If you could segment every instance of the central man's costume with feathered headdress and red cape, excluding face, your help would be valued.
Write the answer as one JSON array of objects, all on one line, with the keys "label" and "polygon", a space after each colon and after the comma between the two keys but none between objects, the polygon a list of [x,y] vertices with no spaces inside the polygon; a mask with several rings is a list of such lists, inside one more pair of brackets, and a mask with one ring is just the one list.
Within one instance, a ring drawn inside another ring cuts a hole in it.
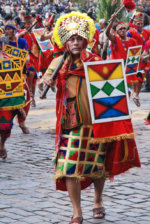
[{"label": "central man's costume with feathered headdress and red cape, excluding face", "polygon": [[[81,26],[82,24],[82,26]],[[67,32],[66,32],[67,31]],[[81,189],[93,182],[93,178],[100,178],[106,171],[110,176],[117,175],[134,166],[140,166],[135,140],[119,138],[111,143],[97,140],[92,143],[93,126],[89,109],[89,99],[85,80],[83,63],[101,60],[93,53],[82,50],[81,57],[73,63],[69,54],[67,41],[73,35],[79,35],[91,41],[95,33],[93,21],[85,14],[72,12],[60,17],[54,28],[54,39],[59,47],[64,45],[68,51],[61,70],[58,73],[56,84],[56,188],[66,190],[65,177],[76,177],[80,181]],[[85,44],[86,48],[86,44]],[[54,59],[45,76],[50,76],[55,70],[58,61]],[[128,127],[129,128],[129,127]],[[131,133],[132,135],[132,133]],[[122,149],[122,153],[120,150]],[[125,150],[125,151],[124,151]],[[124,157],[124,152],[126,157]],[[131,158],[134,159],[130,161]],[[105,166],[105,161],[110,166]],[[113,162],[117,165],[113,166]]]}]

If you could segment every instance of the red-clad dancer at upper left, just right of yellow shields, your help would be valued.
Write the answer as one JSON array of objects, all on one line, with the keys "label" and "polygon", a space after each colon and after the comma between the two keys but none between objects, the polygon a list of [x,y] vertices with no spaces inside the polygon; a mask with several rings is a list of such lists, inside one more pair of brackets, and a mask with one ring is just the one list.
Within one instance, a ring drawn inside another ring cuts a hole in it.
[{"label": "red-clad dancer at upper left, just right of yellow shields", "polygon": [[29,51],[29,57],[30,60],[26,64],[27,66],[27,80],[28,85],[30,89],[30,95],[31,95],[31,106],[35,107],[35,87],[36,87],[36,81],[37,81],[37,71],[38,71],[38,63],[39,63],[39,47],[37,44],[37,41],[34,37],[34,34],[32,32],[32,29],[28,31],[28,28],[32,26],[33,18],[31,15],[27,15],[24,17],[24,27],[25,29],[22,31],[20,30],[17,34],[18,37],[23,37],[26,39],[28,44],[28,51]]}]

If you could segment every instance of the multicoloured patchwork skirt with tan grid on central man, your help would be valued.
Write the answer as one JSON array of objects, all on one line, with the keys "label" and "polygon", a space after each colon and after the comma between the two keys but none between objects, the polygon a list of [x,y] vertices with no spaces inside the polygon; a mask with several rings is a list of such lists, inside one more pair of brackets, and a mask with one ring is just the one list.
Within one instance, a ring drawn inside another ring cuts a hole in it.
[{"label": "multicoloured patchwork skirt with tan grid on central man", "polygon": [[105,150],[103,144],[91,143],[92,126],[66,132],[61,137],[56,162],[56,177],[101,177],[104,173]]}]

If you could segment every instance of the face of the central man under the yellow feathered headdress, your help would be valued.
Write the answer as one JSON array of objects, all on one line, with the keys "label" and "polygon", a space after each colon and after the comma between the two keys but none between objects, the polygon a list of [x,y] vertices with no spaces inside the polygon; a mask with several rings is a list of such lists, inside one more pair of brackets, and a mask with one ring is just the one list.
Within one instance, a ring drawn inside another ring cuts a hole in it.
[{"label": "face of the central man under the yellow feathered headdress", "polygon": [[67,41],[67,44],[69,51],[73,55],[78,56],[83,49],[84,39],[78,35],[74,35]]}]

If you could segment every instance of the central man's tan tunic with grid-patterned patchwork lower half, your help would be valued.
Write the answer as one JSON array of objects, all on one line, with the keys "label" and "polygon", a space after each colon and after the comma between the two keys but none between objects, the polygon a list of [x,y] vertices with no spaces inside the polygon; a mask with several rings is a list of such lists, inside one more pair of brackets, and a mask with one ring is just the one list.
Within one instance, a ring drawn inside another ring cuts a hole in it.
[{"label": "central man's tan tunic with grid-patterned patchwork lower half", "polygon": [[[66,81],[69,98],[76,95],[78,79],[80,78],[73,75]],[[71,131],[63,131],[61,135],[56,162],[56,179],[62,177],[100,178],[104,174],[104,146],[101,143],[91,143],[93,128],[85,78],[82,78],[79,101],[82,125]]]}]

